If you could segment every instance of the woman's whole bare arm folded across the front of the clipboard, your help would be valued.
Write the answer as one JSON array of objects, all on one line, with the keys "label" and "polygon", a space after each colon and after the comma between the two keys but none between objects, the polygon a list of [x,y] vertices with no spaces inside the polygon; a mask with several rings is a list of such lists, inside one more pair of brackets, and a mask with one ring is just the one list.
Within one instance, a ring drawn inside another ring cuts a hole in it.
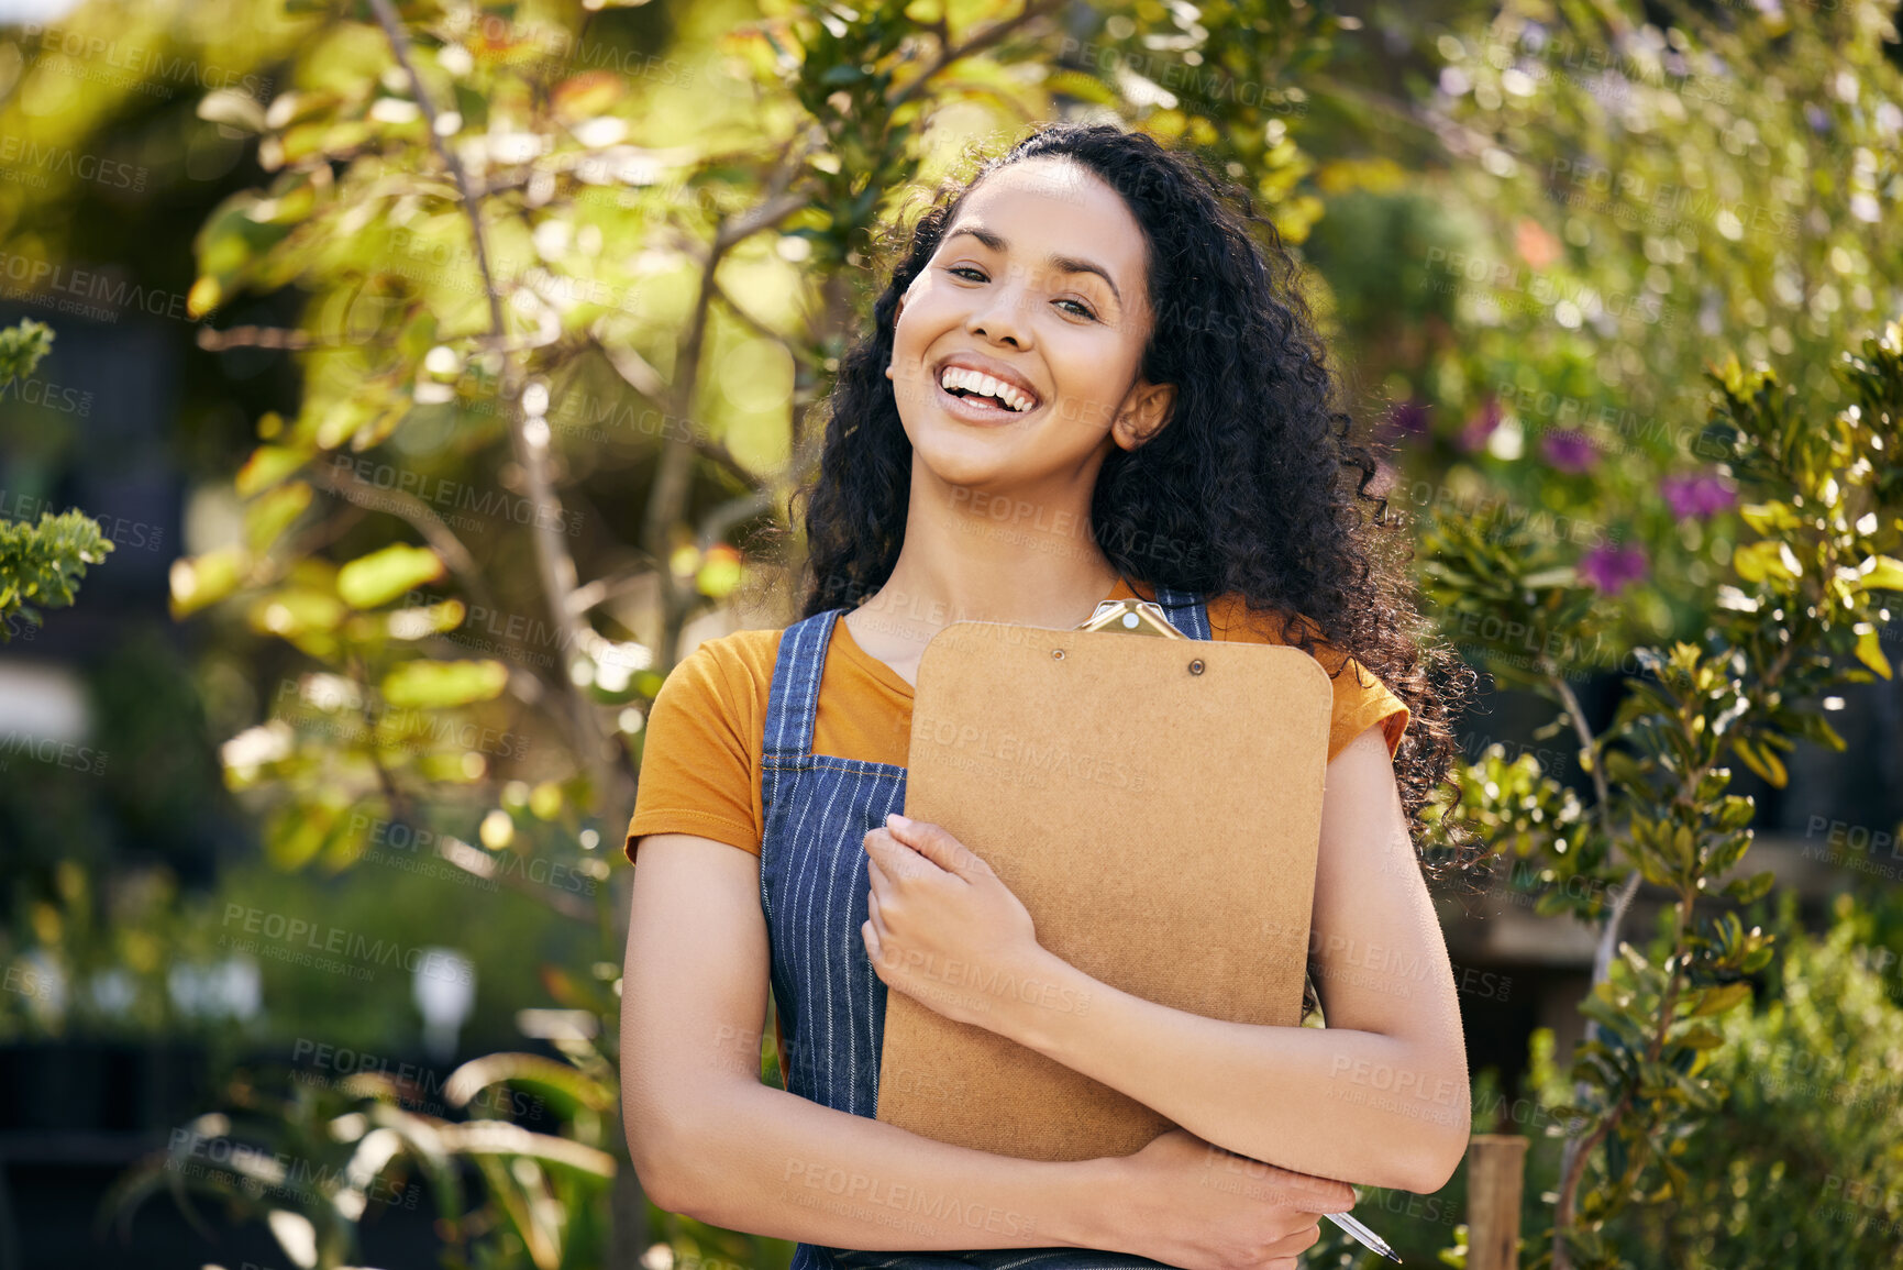
[{"label": "woman's whole bare arm folded across the front of the clipboard", "polygon": [[[988,946],[1028,948],[1007,956],[1020,960],[1022,981],[1047,986],[969,1017],[942,996],[919,1000],[1111,1085],[1239,1156],[1359,1184],[1439,1190],[1467,1150],[1467,1057],[1446,943],[1382,729],[1349,743],[1328,764],[1326,783],[1311,920],[1326,1028],[1226,1022],[1119,992],[1033,941],[1012,941],[997,897],[965,901],[988,904],[995,922]],[[883,845],[872,849],[875,863],[893,859]],[[969,868],[950,836],[923,849],[940,866]],[[959,876],[931,872],[940,893],[961,885]],[[995,878],[965,874],[965,882],[982,891]],[[894,901],[879,895],[885,885],[875,882],[881,922],[893,908],[915,912],[923,893]],[[904,941],[900,931],[893,943]],[[904,988],[889,967],[881,975]],[[1089,1002],[1089,1009],[1064,1007],[1069,1002]]]}]

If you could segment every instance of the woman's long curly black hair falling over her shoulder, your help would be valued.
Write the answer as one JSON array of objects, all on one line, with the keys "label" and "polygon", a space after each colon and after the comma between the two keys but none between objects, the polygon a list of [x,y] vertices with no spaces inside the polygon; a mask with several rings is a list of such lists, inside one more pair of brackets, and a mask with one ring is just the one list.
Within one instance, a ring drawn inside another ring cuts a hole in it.
[{"label": "woman's long curly black hair falling over her shoulder", "polygon": [[[839,360],[818,478],[794,495],[795,508],[807,499],[801,617],[860,604],[898,562],[912,489],[912,442],[885,377],[898,299],[971,190],[1028,158],[1068,158],[1123,196],[1149,248],[1155,326],[1142,373],[1176,385],[1168,427],[1104,459],[1090,505],[1096,545],[1125,579],[1239,592],[1279,617],[1285,644],[1313,655],[1326,642],[1380,676],[1412,712],[1395,777],[1422,866],[1429,880],[1465,872],[1471,843],[1446,824],[1429,830],[1423,811],[1454,781],[1452,716],[1475,674],[1431,640],[1416,609],[1410,539],[1368,489],[1378,465],[1349,440],[1298,265],[1246,190],[1146,133],[1045,124],[948,179],[910,234],[887,230],[891,282],[872,329]],[[1423,840],[1441,849],[1425,851]]]}]

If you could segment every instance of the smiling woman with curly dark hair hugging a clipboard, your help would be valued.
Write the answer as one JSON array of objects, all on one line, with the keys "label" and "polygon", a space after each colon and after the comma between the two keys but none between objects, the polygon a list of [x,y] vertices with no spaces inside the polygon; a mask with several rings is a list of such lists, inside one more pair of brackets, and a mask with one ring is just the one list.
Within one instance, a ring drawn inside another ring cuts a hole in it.
[{"label": "smiling woman with curly dark hair hugging a clipboard", "polygon": [[[1315,1215],[1353,1203],[1344,1182],[1439,1190],[1465,1150],[1460,1011],[1410,834],[1465,684],[1429,687],[1442,653],[1374,567],[1374,465],[1330,409],[1288,257],[1273,244],[1271,274],[1246,196],[1239,215],[1218,190],[1108,124],[1041,129],[942,190],[839,367],[805,619],[702,644],[655,703],[628,828],[628,1142],[657,1203],[799,1240],[795,1270],[1292,1266]],[[887,819],[938,628],[1068,628],[1132,594],[1334,678],[1326,1028],[1094,982],[1037,944],[984,843]],[[879,1123],[887,994],[955,1009],[908,981],[915,954],[1090,992],[1062,1019],[971,1021],[1180,1129],[1047,1163]],[[757,1074],[769,979],[788,1091]]]}]

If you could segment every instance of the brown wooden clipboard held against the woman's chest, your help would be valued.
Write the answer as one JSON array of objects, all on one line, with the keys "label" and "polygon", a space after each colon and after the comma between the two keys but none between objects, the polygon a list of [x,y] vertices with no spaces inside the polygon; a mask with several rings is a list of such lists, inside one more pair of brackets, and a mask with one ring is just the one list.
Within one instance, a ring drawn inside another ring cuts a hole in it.
[{"label": "brown wooden clipboard held against the woman's chest", "polygon": [[[982,855],[1039,943],[1094,979],[1294,1026],[1332,703],[1296,647],[953,623],[919,659],[906,815]],[[1037,992],[946,977],[967,996]],[[1128,1156],[1170,1127],[902,992],[887,994],[877,1118],[1022,1160]]]}]

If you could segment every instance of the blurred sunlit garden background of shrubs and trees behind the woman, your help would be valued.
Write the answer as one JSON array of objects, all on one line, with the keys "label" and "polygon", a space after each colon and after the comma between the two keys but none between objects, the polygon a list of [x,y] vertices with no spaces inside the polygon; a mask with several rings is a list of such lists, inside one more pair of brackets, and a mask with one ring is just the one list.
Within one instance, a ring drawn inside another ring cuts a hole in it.
[{"label": "blurred sunlit garden background of shrubs and trees behind the woman", "polygon": [[786,1264],[628,1167],[643,718],[794,615],[879,228],[1064,116],[1252,192],[1482,672],[1524,1264],[1903,1264],[1893,4],[0,21],[0,1270]]}]

